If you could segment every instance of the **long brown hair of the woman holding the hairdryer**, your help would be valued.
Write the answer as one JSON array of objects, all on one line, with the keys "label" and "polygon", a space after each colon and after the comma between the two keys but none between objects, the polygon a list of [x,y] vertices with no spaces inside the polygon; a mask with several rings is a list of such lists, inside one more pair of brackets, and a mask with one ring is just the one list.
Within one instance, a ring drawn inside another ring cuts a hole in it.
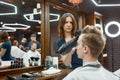
[{"label": "long brown hair of the woman holding the hairdryer", "polygon": [[58,33],[59,33],[59,37],[61,39],[65,38],[65,34],[64,34],[64,30],[63,30],[63,26],[65,24],[65,21],[66,21],[66,18],[67,17],[71,17],[72,18],[72,26],[73,26],[73,29],[72,29],[72,36],[74,36],[76,34],[76,30],[77,30],[77,22],[75,20],[75,17],[71,14],[71,13],[65,13],[63,14],[63,16],[61,17],[60,21],[59,21],[59,24],[58,24]]}]

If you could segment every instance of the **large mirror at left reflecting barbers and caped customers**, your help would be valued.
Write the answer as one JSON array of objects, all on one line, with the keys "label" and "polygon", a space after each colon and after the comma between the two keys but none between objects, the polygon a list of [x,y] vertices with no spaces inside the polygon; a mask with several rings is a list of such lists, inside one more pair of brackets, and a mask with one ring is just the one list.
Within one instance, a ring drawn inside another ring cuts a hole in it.
[{"label": "large mirror at left reflecting barbers and caped customers", "polygon": [[0,1],[1,68],[41,65],[41,3]]}]

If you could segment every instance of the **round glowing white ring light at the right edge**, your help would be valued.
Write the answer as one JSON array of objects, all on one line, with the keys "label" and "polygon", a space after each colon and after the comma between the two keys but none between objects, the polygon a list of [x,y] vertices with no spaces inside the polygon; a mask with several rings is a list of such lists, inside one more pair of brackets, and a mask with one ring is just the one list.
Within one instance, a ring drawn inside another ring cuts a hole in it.
[{"label": "round glowing white ring light at the right edge", "polygon": [[[108,31],[108,28],[111,25],[116,25],[118,27],[118,32],[116,32],[115,34],[110,33]],[[112,38],[118,37],[120,35],[120,23],[117,21],[111,21],[111,22],[107,23],[107,25],[105,26],[105,33],[107,36],[112,37]]]}]

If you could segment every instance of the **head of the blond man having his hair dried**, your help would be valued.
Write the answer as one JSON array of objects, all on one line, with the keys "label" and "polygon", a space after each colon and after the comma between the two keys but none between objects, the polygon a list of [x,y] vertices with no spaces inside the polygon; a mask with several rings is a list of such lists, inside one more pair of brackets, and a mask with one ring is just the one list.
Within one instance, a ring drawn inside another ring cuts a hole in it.
[{"label": "head of the blond man having his hair dried", "polygon": [[79,58],[83,59],[85,55],[90,55],[97,59],[104,49],[106,39],[98,28],[87,25],[83,29],[77,43],[76,49]]}]

